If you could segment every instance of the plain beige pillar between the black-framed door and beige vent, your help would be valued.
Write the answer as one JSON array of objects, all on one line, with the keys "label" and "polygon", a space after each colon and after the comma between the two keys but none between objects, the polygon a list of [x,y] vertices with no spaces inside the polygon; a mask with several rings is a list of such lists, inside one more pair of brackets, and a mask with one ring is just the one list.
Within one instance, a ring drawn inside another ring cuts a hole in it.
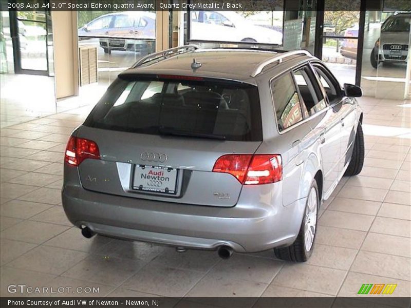
[{"label": "plain beige pillar between the black-framed door and beige vent", "polygon": [[77,12],[52,11],[57,99],[79,94]]}]

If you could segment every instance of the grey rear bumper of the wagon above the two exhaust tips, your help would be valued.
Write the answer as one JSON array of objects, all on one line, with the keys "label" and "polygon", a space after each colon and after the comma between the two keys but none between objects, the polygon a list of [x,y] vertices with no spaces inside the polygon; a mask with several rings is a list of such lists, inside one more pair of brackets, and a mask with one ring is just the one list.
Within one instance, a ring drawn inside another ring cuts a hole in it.
[{"label": "grey rear bumper of the wagon above the two exhaust tips", "polygon": [[[227,245],[258,252],[290,245],[300,230],[305,199],[283,206],[282,182],[244,188],[236,206],[212,207],[102,194],[64,185],[68,219],[97,234],[199,249]],[[80,233],[79,233],[80,236]]]}]

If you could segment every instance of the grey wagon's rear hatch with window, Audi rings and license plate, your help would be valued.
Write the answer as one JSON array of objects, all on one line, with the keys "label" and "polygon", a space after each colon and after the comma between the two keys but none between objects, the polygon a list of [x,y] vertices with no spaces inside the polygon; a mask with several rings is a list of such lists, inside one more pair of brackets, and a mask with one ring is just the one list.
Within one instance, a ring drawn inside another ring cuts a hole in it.
[{"label": "grey wagon's rear hatch with window, Audi rings and license plate", "polygon": [[99,150],[99,159],[79,165],[86,189],[234,206],[242,184],[213,167],[223,155],[253,154],[260,145],[257,87],[192,76],[120,75],[77,137]]}]

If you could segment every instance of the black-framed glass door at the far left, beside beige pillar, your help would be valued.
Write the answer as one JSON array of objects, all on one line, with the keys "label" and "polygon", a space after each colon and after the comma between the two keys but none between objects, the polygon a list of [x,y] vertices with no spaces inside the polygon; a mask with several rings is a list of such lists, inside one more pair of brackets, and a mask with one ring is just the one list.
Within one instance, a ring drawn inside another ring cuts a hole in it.
[{"label": "black-framed glass door at the far left, beside beige pillar", "polygon": [[15,73],[49,75],[49,22],[46,11],[10,11]]}]

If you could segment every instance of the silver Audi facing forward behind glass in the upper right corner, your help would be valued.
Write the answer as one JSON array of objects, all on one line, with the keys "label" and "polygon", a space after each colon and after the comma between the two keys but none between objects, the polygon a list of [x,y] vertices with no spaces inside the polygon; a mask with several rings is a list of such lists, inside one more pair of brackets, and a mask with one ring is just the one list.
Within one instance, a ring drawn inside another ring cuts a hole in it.
[{"label": "silver Audi facing forward behind glass in the upper right corner", "polygon": [[381,26],[381,36],[371,51],[373,68],[380,63],[407,63],[411,13],[389,16]]}]

